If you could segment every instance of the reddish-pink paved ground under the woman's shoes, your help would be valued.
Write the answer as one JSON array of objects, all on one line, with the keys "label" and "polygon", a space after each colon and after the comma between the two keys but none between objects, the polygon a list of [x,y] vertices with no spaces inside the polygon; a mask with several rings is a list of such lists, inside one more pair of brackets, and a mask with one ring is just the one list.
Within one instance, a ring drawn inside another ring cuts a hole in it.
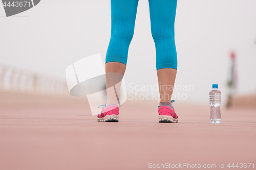
[{"label": "reddish-pink paved ground under the woman's shoes", "polygon": [[64,103],[1,107],[0,169],[153,169],[148,163],[229,169],[228,163],[248,162],[256,168],[256,110],[223,107],[221,124],[212,125],[208,104],[176,102],[179,123],[167,124],[158,123],[158,103],[127,101],[119,122],[104,123],[86,102]]}]

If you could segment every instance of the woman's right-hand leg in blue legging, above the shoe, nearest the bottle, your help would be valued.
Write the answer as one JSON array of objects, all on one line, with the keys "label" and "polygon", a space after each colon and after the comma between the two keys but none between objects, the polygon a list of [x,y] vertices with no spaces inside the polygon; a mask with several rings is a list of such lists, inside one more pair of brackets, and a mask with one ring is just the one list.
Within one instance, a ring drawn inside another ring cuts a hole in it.
[{"label": "woman's right-hand leg in blue legging, above the shoe, nearest the bottle", "polygon": [[174,23],[177,0],[148,0],[161,102],[170,102],[177,73]]}]

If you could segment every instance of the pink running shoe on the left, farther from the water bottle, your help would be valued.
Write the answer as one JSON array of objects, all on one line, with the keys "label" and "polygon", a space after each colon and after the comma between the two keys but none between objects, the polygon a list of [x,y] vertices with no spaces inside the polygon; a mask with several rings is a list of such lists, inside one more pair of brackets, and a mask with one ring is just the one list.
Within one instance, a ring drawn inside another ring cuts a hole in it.
[{"label": "pink running shoe on the left, farther from the water bottle", "polygon": [[118,122],[118,114],[119,114],[118,105],[109,104],[108,106],[106,106],[104,104],[100,106],[99,108],[102,108],[102,111],[97,116],[98,122]]}]

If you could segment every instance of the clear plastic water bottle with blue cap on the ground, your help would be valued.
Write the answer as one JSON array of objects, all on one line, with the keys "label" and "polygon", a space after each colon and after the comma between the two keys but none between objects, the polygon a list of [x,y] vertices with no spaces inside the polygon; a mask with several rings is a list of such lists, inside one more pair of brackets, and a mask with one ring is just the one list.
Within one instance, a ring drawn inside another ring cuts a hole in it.
[{"label": "clear plastic water bottle with blue cap on the ground", "polygon": [[210,123],[221,123],[221,91],[218,90],[218,84],[212,84],[210,91]]}]

